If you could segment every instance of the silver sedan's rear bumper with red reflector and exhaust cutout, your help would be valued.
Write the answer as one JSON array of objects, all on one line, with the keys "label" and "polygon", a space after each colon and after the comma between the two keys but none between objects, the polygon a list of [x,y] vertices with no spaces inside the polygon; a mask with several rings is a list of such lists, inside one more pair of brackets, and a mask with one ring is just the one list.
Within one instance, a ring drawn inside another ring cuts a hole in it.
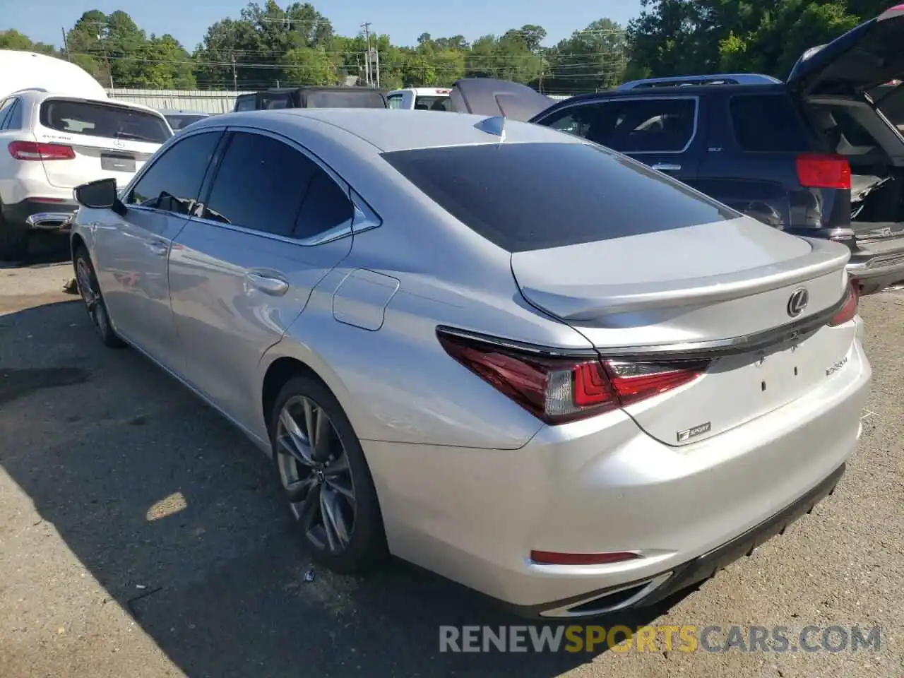
[{"label": "silver sedan's rear bumper with red reflector and exhaust cutout", "polygon": [[[532,617],[593,617],[705,579],[815,504],[856,447],[870,381],[857,341],[805,397],[683,447],[621,411],[517,450],[363,447],[394,554]],[[546,565],[532,550],[642,557]]]}]

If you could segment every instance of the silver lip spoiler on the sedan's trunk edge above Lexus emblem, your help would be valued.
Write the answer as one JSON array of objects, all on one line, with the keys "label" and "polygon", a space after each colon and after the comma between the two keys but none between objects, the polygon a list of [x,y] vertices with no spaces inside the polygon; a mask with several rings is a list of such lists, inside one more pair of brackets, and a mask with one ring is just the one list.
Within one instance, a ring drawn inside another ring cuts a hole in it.
[{"label": "silver lip spoiler on the sedan's trunk edge above Lexus emblem", "polygon": [[830,240],[804,238],[811,251],[804,257],[762,268],[693,278],[685,284],[675,281],[643,285],[587,285],[562,287],[559,292],[523,287],[523,294],[543,308],[565,309],[557,316],[565,322],[594,322],[636,311],[702,306],[749,297],[780,287],[803,283],[843,271],[851,250]]}]

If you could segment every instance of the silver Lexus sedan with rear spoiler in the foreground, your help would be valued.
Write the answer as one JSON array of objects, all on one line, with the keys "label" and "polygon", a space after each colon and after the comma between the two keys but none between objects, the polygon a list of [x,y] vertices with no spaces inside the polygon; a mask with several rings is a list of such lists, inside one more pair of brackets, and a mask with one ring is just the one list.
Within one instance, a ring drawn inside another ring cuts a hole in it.
[{"label": "silver Lexus sedan with rear spoiler in the foreground", "polygon": [[100,340],[272,459],[315,558],[541,617],[649,605],[830,494],[871,368],[848,250],[546,127],[232,113],[76,191]]}]

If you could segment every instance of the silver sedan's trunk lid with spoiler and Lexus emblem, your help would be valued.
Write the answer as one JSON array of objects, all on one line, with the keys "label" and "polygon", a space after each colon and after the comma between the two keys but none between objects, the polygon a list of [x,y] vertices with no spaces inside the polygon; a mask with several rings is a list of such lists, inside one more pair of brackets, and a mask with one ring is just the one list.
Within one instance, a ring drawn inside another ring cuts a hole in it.
[{"label": "silver sedan's trunk lid with spoiler and Lexus emblem", "polygon": [[683,445],[782,407],[843,363],[852,327],[823,325],[843,300],[849,256],[739,218],[515,252],[512,270],[533,306],[606,361],[711,361],[691,383],[625,408],[649,435]]}]

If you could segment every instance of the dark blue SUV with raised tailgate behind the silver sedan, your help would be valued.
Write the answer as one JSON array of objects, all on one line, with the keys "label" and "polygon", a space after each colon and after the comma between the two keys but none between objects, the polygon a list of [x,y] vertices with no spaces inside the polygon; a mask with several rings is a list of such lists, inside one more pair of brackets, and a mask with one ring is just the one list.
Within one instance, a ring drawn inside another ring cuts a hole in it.
[{"label": "dark blue SUV with raised tailgate behind the silver sedan", "polygon": [[549,107],[523,85],[459,80],[470,106],[458,109],[498,114],[506,93],[518,119],[614,148],[777,229],[843,241],[871,294],[904,279],[904,137],[865,96],[904,74],[902,39],[899,5],[805,53],[785,83],[654,80]]}]

